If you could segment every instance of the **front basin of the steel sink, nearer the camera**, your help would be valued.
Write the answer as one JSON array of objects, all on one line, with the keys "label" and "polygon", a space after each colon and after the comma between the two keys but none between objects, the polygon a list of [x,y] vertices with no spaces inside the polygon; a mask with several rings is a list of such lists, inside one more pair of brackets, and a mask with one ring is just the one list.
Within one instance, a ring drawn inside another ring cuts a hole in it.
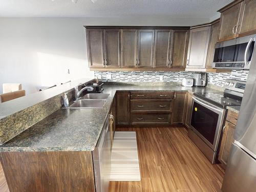
[{"label": "front basin of the steel sink, nearer the camera", "polygon": [[71,104],[69,108],[102,109],[105,103],[105,99],[80,99]]}]

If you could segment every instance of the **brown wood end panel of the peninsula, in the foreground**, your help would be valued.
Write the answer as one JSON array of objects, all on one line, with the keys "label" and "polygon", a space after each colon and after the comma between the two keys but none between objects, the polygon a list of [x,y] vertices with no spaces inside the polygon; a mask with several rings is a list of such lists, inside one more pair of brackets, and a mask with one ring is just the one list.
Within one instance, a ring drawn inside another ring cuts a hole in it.
[{"label": "brown wood end panel of the peninsula, in the foreground", "polygon": [[11,192],[95,191],[92,152],[1,152]]}]

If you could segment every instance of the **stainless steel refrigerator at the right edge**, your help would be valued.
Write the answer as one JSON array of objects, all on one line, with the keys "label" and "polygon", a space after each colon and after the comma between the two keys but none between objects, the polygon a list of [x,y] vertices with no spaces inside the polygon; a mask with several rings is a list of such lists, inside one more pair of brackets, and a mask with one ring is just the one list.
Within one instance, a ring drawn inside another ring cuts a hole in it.
[{"label": "stainless steel refrigerator at the right edge", "polygon": [[256,191],[256,50],[234,133],[222,191]]}]

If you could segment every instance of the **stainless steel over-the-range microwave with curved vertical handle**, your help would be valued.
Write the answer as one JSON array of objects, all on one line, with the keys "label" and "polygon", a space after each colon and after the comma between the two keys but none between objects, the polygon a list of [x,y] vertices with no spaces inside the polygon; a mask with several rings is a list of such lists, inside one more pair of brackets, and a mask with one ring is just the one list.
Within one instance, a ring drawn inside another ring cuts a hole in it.
[{"label": "stainless steel over-the-range microwave with curved vertical handle", "polygon": [[215,69],[249,70],[255,40],[256,34],[253,34],[217,43],[212,67]]}]

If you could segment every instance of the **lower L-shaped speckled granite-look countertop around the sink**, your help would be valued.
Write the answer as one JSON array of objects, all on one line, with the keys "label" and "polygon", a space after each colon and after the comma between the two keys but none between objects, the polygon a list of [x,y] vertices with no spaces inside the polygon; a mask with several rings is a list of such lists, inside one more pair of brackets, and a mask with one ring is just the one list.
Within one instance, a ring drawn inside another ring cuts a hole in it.
[{"label": "lower L-shaped speckled granite-look countertop around the sink", "polygon": [[103,109],[59,109],[0,146],[0,152],[19,151],[93,151],[116,91],[189,91],[217,93],[210,88],[180,85],[105,85],[109,93]]}]

